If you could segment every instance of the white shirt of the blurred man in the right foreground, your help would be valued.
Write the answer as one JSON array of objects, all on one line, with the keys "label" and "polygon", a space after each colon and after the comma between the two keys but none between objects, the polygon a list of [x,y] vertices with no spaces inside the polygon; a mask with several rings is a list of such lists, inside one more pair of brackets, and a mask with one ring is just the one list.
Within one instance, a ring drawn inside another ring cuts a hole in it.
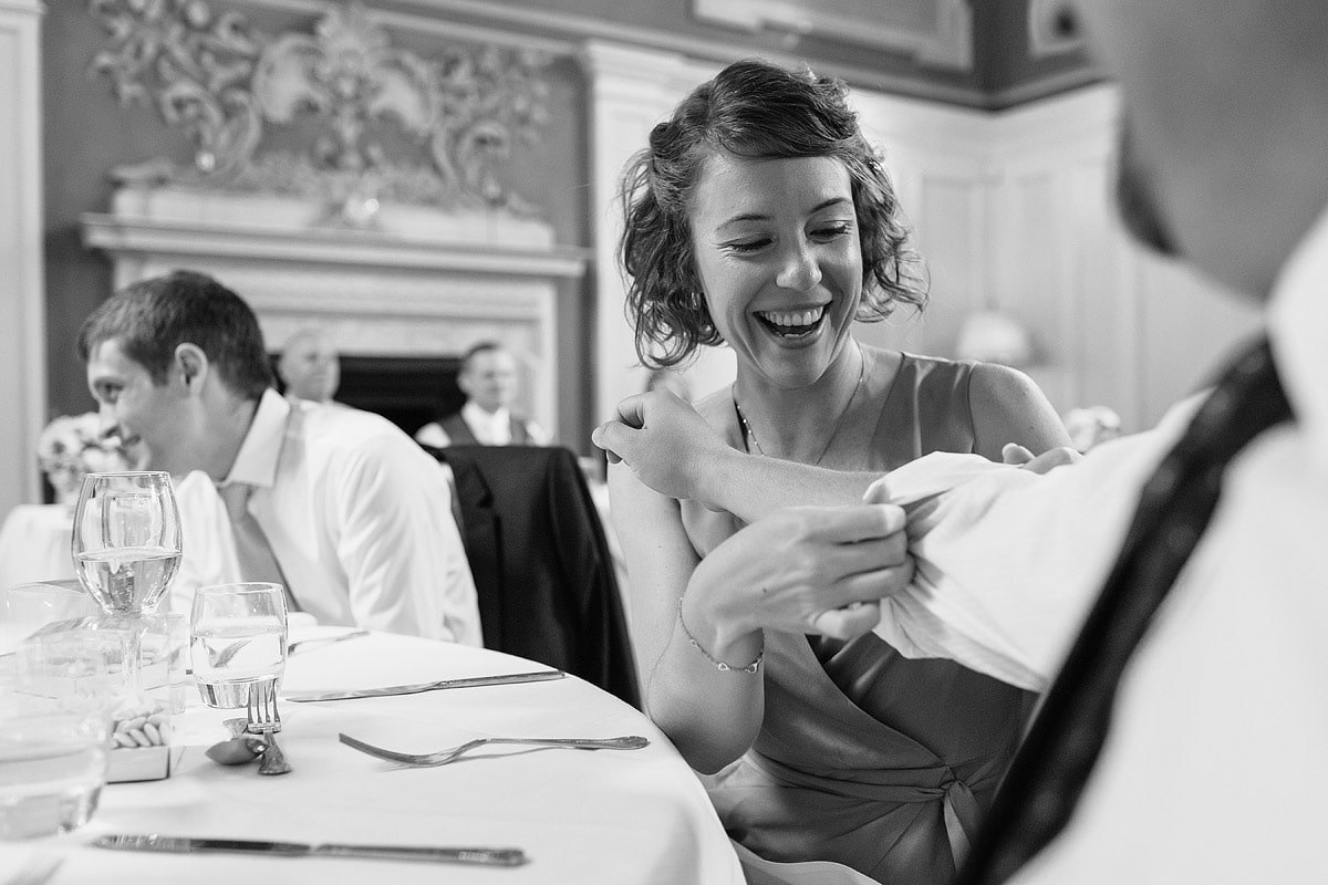
[{"label": "white shirt of the blurred man in the right foreground", "polygon": [[[1297,423],[1232,462],[1208,531],[1125,673],[1078,811],[1015,881],[1328,881],[1317,848],[1328,795],[1328,215],[1284,268],[1267,320]],[[918,502],[918,579],[884,606],[878,633],[906,654],[1045,689],[1142,484],[1195,405],[1046,476],[964,455],[890,474],[891,492]]]}]

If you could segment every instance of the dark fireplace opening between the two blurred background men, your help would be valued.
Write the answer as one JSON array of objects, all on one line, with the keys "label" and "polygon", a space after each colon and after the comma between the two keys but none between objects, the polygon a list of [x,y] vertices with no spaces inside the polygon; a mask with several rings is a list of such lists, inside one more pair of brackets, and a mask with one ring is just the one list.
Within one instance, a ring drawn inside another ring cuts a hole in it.
[{"label": "dark fireplace opening between the two blurred background men", "polygon": [[[276,356],[272,356],[274,373]],[[414,435],[420,427],[466,403],[457,386],[459,357],[341,356],[336,399],[373,411]],[[279,389],[280,389],[280,381]],[[284,391],[283,391],[284,393]]]}]

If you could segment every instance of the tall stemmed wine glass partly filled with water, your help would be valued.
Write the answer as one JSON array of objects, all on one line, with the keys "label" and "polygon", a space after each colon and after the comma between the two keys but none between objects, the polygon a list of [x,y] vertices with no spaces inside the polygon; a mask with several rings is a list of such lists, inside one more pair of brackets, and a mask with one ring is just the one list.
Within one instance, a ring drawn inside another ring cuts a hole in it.
[{"label": "tall stemmed wine glass partly filled with water", "polygon": [[137,690],[139,647],[179,568],[179,508],[170,474],[88,474],[74,507],[72,552],[84,589],[124,633],[125,681]]}]

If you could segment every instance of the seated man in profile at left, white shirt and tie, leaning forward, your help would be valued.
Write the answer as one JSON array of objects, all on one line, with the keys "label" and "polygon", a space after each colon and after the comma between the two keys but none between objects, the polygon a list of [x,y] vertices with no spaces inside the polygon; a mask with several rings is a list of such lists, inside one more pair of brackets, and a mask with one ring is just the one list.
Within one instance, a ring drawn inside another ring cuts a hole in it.
[{"label": "seated man in profile at left, white shirt and tie, leaning forward", "polygon": [[481,645],[438,463],[378,415],[279,395],[234,292],[186,271],[135,283],[88,317],[78,353],[105,429],[175,476],[173,610],[202,584],[278,581],[321,624]]}]

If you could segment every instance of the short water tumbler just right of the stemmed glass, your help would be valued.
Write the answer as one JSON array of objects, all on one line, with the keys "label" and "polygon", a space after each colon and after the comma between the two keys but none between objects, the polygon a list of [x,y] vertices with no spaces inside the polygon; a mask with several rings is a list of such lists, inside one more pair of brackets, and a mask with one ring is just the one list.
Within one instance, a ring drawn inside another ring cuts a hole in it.
[{"label": "short water tumbler just right of the stemmed glass", "polygon": [[212,584],[194,593],[190,659],[203,703],[239,709],[250,687],[274,691],[286,673],[286,592],[280,584]]}]

